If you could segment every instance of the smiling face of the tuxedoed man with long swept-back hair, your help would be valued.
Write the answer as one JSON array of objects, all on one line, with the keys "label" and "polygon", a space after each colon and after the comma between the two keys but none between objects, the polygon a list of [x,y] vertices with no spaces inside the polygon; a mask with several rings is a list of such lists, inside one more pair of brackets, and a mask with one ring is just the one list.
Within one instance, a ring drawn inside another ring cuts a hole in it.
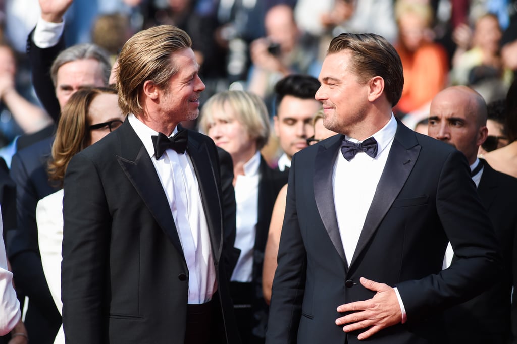
[{"label": "smiling face of the tuxedoed man with long swept-back hair", "polygon": [[172,54],[171,63],[177,66],[178,71],[171,76],[169,85],[160,92],[160,111],[165,118],[175,121],[196,119],[199,116],[199,97],[205,89],[197,72],[199,65],[196,62],[192,49],[184,49]]}]

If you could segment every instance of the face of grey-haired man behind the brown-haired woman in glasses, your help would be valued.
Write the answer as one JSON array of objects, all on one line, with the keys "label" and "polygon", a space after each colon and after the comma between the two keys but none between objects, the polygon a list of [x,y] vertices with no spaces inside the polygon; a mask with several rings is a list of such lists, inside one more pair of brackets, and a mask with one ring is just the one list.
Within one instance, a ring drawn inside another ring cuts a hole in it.
[{"label": "face of grey-haired man behind the brown-haired woman in glasses", "polygon": [[70,61],[57,70],[56,98],[61,108],[78,89],[102,86],[105,86],[102,66],[94,58]]}]

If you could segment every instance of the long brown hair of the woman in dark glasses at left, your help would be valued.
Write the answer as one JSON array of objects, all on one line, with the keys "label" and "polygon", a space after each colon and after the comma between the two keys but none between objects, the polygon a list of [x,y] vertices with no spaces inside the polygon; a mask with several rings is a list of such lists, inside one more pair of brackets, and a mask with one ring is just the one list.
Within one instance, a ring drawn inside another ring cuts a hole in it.
[{"label": "long brown hair of the woman in dark glasses at left", "polygon": [[52,144],[52,159],[48,163],[49,179],[63,185],[66,168],[72,157],[88,146],[88,112],[90,104],[101,93],[116,95],[108,87],[82,88],[73,93],[63,107]]}]

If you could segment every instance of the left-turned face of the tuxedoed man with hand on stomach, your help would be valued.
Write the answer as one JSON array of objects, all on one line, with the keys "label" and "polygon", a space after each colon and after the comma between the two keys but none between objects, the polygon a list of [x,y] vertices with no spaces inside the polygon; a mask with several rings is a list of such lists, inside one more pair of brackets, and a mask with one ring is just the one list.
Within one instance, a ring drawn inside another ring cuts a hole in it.
[{"label": "left-turned face of the tuxedoed man with hand on stomach", "polygon": [[342,134],[354,132],[358,123],[364,121],[369,104],[369,87],[358,80],[351,63],[351,53],[347,51],[327,55],[315,97],[323,105],[325,128]]}]

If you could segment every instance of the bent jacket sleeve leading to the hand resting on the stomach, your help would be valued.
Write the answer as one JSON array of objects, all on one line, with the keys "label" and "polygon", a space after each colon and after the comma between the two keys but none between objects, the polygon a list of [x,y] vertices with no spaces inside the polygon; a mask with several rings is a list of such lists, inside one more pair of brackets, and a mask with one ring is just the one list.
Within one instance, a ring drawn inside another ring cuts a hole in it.
[{"label": "bent jacket sleeve leading to the hand resting on the stomach", "polygon": [[436,211],[458,259],[438,274],[397,285],[408,322],[473,298],[501,273],[491,221],[458,151],[449,155],[442,168]]}]

